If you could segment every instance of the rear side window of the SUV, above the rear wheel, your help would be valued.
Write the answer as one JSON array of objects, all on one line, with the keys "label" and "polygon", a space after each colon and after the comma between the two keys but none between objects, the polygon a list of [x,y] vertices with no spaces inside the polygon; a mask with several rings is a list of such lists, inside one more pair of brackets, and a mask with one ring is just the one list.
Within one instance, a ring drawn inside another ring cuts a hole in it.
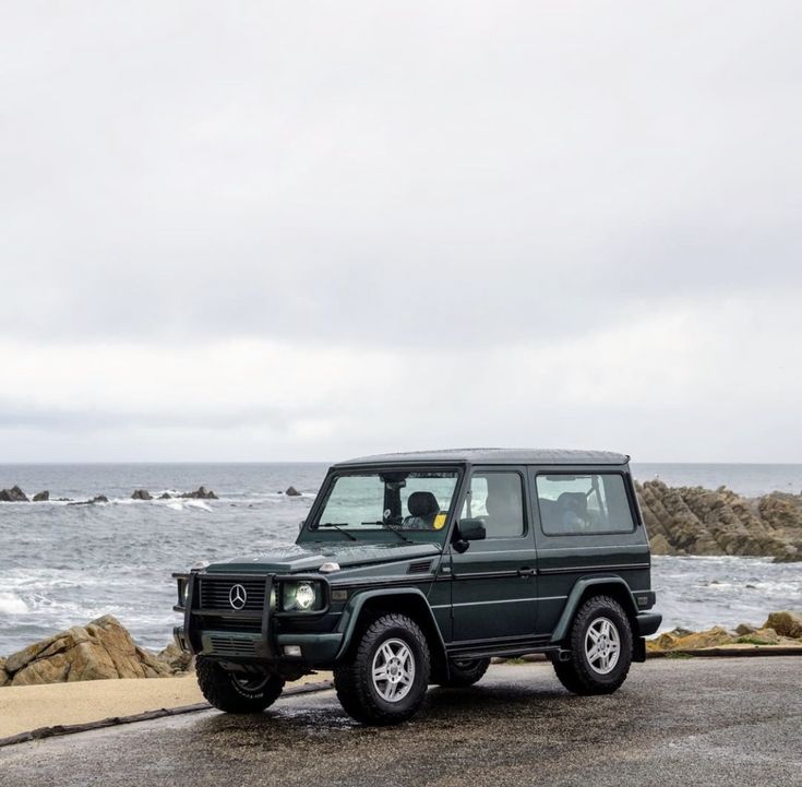
[{"label": "rear side window of the SUV, above the rear wheel", "polygon": [[539,475],[535,484],[540,521],[549,536],[635,529],[623,476]]}]

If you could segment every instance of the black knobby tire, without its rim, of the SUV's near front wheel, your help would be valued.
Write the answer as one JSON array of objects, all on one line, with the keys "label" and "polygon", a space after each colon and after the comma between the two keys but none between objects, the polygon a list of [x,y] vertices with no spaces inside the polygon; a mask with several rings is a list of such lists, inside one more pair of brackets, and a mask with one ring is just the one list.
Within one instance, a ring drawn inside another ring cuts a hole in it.
[{"label": "black knobby tire, without its rim, of the SUV's near front wheel", "polygon": [[[397,702],[382,697],[373,681],[376,653],[388,642],[403,642],[414,658],[414,678],[408,693]],[[343,710],[357,722],[391,725],[406,722],[421,706],[429,684],[429,644],[420,627],[405,615],[387,612],[361,632],[349,657],[334,669],[334,687]]]}]

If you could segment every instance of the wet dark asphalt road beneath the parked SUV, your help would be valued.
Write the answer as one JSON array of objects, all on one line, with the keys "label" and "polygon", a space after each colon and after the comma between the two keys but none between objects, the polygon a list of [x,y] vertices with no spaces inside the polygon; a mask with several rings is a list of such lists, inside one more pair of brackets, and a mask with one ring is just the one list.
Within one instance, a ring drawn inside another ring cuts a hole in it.
[{"label": "wet dark asphalt road beneath the parked SUV", "polygon": [[653,660],[606,697],[570,695],[549,665],[492,667],[395,728],[326,691],[0,750],[2,787],[163,784],[802,786],[802,659]]}]

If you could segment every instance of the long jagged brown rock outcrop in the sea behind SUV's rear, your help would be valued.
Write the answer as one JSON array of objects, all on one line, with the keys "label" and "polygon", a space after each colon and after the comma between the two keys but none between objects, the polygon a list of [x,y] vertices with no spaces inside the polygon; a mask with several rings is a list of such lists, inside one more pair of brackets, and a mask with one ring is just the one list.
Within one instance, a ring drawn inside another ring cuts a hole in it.
[{"label": "long jagged brown rock outcrop in the sea behind SUV's rear", "polygon": [[720,487],[636,485],[655,555],[737,555],[802,560],[802,497],[751,500]]}]

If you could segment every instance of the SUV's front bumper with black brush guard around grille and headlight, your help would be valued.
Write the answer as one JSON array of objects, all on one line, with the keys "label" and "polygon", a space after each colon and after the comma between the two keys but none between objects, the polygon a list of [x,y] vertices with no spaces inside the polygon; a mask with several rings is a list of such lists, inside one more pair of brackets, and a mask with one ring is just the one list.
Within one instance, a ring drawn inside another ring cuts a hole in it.
[{"label": "SUV's front bumper with black brush guard around grille and headlight", "polygon": [[[199,656],[236,663],[276,663],[320,665],[334,660],[343,642],[337,632],[316,633],[279,631],[286,628],[284,621],[292,618],[310,621],[322,618],[330,610],[331,587],[320,574],[275,575],[258,577],[264,581],[264,604],[261,609],[234,611],[230,609],[204,608],[202,606],[201,583],[204,579],[215,582],[238,583],[253,581],[253,576],[241,574],[201,574],[192,572],[181,575],[187,582],[184,606],[177,608],[183,613],[183,625],[173,629],[173,636],[182,651]],[[322,586],[324,603],[314,612],[286,612],[271,609],[271,595],[280,582],[313,581]],[[225,620],[225,629],[218,622]],[[279,624],[278,621],[282,621]],[[289,648],[289,652],[287,652]]]}]

